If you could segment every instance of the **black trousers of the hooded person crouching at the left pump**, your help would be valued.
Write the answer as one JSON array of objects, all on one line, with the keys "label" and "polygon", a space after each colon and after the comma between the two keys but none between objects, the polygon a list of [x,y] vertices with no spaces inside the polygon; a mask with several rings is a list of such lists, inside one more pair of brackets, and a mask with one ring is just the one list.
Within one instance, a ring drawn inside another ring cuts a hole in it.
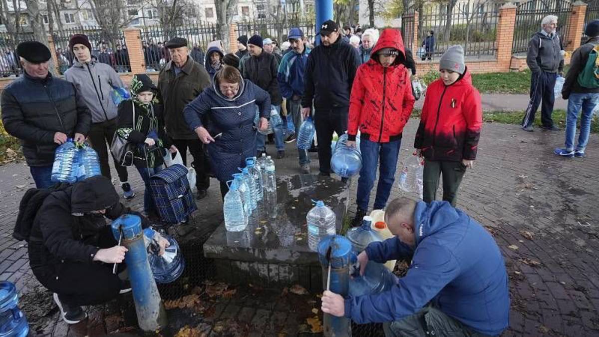
[{"label": "black trousers of the hooded person crouching at the left pump", "polygon": [[[102,228],[99,248],[117,245],[110,226]],[[113,264],[93,262],[68,262],[39,267],[33,270],[35,277],[44,287],[57,293],[60,302],[72,306],[99,305],[106,303],[129,288],[128,282],[119,278],[118,273],[125,269],[120,263],[117,273],[112,273]]]}]

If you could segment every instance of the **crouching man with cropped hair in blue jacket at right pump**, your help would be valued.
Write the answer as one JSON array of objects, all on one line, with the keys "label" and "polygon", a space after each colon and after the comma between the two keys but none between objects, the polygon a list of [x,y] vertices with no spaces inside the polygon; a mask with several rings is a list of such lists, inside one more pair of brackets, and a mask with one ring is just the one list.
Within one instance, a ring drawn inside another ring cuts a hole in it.
[{"label": "crouching man with cropped hair in blue jacket at right pump", "polygon": [[368,263],[411,258],[406,276],[380,294],[343,299],[325,291],[323,312],[358,324],[385,322],[386,336],[495,336],[506,329],[506,266],[482,225],[447,201],[405,197],[389,203],[385,222],[395,237],[358,255],[360,273]]}]

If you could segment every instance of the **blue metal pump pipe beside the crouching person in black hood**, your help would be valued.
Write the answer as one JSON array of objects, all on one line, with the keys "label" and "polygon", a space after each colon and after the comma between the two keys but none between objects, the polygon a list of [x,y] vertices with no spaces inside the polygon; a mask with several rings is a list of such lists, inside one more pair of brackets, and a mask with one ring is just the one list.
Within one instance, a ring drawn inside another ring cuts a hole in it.
[{"label": "blue metal pump pipe beside the crouching person in black hood", "polygon": [[158,293],[156,281],[148,261],[141,219],[137,215],[122,215],[112,223],[115,239],[122,233],[122,245],[128,251],[125,263],[129,271],[131,291],[137,312],[137,321],[144,331],[155,331],[167,326],[167,312]]}]

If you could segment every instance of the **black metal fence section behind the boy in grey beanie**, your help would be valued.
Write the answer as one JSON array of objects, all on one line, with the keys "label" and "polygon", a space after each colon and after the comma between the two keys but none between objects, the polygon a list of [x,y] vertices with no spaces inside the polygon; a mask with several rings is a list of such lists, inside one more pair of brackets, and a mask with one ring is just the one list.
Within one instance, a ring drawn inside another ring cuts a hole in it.
[{"label": "black metal fence section behind the boy in grey beanie", "polygon": [[458,2],[453,8],[447,4],[426,6],[420,13],[416,56],[435,59],[455,44],[464,47],[465,56],[495,55],[499,8],[500,4],[488,1]]}]

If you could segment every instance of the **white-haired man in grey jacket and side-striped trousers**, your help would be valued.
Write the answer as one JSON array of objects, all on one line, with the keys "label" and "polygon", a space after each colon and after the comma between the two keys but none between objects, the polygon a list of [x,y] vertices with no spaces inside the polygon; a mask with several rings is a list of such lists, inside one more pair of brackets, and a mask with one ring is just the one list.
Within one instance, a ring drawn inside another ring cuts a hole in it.
[{"label": "white-haired man in grey jacket and side-striped trousers", "polygon": [[564,69],[564,50],[561,40],[555,32],[558,26],[558,17],[548,15],[541,21],[541,31],[536,32],[528,43],[526,62],[528,68],[533,72],[530,79],[530,102],[524,119],[522,129],[533,131],[534,114],[541,106],[541,128],[544,130],[558,131],[559,128],[553,124],[551,115],[555,96],[553,87],[558,73]]}]

